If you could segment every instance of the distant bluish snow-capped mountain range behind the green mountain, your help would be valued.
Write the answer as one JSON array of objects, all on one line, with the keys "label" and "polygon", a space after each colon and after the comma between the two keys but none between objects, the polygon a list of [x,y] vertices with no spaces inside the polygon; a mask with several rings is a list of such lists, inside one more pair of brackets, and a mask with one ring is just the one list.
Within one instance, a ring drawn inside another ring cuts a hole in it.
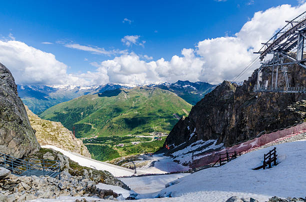
[{"label": "distant bluish snow-capped mountain range behind the green mountain", "polygon": [[[191,105],[195,105],[205,94],[212,91],[216,85],[205,82],[177,81],[175,83],[157,83],[146,85],[171,91]],[[136,85],[105,84],[105,85],[32,85],[18,84],[17,91],[22,102],[35,114],[69,101],[82,95],[93,95],[108,90],[130,89]]]}]

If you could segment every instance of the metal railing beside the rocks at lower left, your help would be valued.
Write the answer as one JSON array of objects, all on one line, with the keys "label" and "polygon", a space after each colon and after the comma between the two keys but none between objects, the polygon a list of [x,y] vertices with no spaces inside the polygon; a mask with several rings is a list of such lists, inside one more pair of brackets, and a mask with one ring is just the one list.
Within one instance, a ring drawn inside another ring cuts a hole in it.
[{"label": "metal railing beside the rocks at lower left", "polygon": [[17,159],[0,153],[0,167],[18,176],[51,176],[60,179],[60,161],[44,159]]}]

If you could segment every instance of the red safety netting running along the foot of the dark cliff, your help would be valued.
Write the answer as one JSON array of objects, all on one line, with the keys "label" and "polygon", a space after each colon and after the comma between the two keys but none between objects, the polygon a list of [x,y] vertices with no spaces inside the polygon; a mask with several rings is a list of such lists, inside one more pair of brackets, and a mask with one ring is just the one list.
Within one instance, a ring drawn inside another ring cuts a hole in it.
[{"label": "red safety netting running along the foot of the dark cliff", "polygon": [[290,138],[294,135],[297,135],[299,133],[306,132],[306,123],[301,123],[299,125],[279,130],[276,132],[268,133],[261,135],[259,138],[254,138],[252,140],[246,141],[244,143],[240,143],[238,145],[234,145],[232,147],[227,147],[219,151],[206,153],[204,155],[196,155],[194,157],[193,166],[194,167],[201,167],[206,166],[212,163],[215,163],[219,159],[219,154],[226,153],[226,150],[228,153],[236,151],[236,153],[246,153],[250,152],[258,147],[261,147],[262,145],[272,143],[272,142],[278,142],[283,139]]}]

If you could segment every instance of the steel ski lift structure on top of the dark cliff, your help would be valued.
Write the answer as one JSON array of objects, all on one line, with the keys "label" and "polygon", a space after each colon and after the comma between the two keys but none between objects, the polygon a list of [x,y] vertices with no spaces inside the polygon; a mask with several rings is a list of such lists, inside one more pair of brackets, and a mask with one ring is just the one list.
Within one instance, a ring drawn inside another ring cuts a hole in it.
[{"label": "steel ski lift structure on top of the dark cliff", "polygon": [[[306,37],[306,11],[292,20],[287,20],[287,24],[281,28],[258,52],[260,61],[267,55],[273,55],[272,59],[261,62],[257,71],[257,82],[254,92],[283,92],[283,93],[306,93],[305,87],[289,86],[288,67],[292,64],[300,65],[306,69],[306,58],[303,57],[304,40]],[[284,62],[285,61],[285,62]],[[271,81],[262,80],[262,70],[272,69]],[[285,85],[278,86],[278,75],[281,73]],[[270,84],[270,85],[268,85]]]}]

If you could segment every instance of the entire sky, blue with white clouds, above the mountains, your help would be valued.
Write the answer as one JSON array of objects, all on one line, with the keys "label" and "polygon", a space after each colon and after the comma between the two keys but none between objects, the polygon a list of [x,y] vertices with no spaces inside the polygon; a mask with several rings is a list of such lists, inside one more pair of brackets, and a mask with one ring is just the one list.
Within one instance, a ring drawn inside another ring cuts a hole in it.
[{"label": "entire sky, blue with white clouds, above the mountains", "polygon": [[0,62],[17,84],[217,84],[305,10],[305,0],[3,1]]}]

